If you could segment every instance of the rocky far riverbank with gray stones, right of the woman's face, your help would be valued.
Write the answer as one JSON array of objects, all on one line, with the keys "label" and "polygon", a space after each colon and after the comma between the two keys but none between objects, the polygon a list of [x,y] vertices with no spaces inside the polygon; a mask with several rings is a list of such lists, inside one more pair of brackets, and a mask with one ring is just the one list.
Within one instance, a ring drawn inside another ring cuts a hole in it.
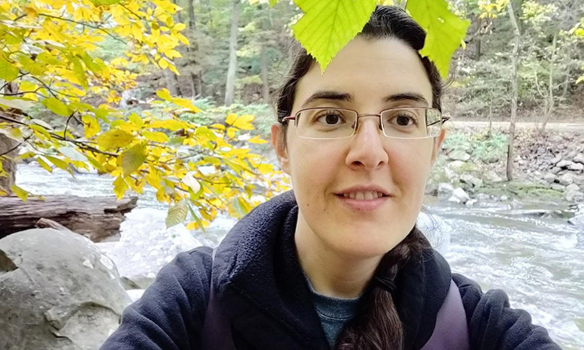
[{"label": "rocky far riverbank with gray stones, right of the woman's face", "polygon": [[584,133],[517,130],[513,181],[506,181],[506,129],[450,128],[426,193],[440,199],[584,202]]}]

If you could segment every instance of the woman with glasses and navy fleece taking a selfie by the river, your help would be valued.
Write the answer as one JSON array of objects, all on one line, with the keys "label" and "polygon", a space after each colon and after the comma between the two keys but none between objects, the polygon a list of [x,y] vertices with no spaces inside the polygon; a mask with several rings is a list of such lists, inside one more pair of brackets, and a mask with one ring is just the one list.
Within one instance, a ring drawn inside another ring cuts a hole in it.
[{"label": "woman with glasses and navy fleece taking a selfie by the river", "polygon": [[179,254],[102,349],[558,349],[415,227],[444,139],[424,39],[378,6],[324,74],[301,51],[272,127],[294,192]]}]

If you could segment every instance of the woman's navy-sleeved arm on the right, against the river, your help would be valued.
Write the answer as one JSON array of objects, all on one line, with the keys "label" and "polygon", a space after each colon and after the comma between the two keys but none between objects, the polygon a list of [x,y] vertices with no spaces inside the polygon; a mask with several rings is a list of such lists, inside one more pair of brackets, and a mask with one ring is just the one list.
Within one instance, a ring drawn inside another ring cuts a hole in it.
[{"label": "woman's navy-sleeved arm on the right, against the river", "polygon": [[531,323],[527,311],[511,309],[500,289],[482,293],[471,279],[453,274],[467,314],[472,349],[561,350],[545,328]]}]

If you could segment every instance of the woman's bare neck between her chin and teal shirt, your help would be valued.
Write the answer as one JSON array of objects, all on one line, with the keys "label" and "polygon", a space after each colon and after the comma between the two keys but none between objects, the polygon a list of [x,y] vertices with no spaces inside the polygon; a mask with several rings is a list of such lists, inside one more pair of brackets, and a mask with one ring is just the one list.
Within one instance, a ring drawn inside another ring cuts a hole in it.
[{"label": "woman's bare neck between her chin and teal shirt", "polygon": [[312,288],[326,296],[361,295],[381,260],[381,257],[350,257],[335,251],[312,232],[301,215],[298,215],[294,241],[300,265]]}]

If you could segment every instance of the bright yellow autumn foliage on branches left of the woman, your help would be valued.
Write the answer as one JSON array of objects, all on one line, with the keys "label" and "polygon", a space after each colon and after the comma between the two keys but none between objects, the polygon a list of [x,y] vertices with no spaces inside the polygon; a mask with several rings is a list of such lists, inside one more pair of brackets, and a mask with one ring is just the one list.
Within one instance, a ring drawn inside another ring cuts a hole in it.
[{"label": "bright yellow autumn foliage on branches left of the woman", "polygon": [[[15,124],[0,115],[0,133],[33,145],[22,157],[48,172],[52,166],[69,172],[72,166],[91,166],[109,174],[117,198],[149,185],[159,201],[173,205],[167,223],[182,222],[190,213],[189,229],[202,229],[219,211],[245,215],[258,203],[248,200],[256,185],[272,195],[287,184],[276,180],[279,173],[260,163],[259,155],[232,145],[236,133],[253,129],[252,115],[227,115],[227,128],[186,122],[180,115],[199,108],[166,89],[157,96],[169,102],[162,106],[171,118],[119,109],[121,92],[137,86],[130,63],[178,74],[173,59],[181,57],[180,45],[189,44],[181,33],[186,25],[173,20],[179,9],[172,0],[0,0],[0,79],[14,82],[20,92],[0,91],[0,106],[12,108],[23,121]],[[127,51],[100,60],[95,50],[106,38],[124,43]],[[95,100],[102,104],[92,105]],[[29,110],[51,111],[60,120],[52,125],[32,120]],[[249,142],[266,141],[255,136]],[[216,171],[203,173],[201,166]],[[5,173],[0,169],[0,176]],[[12,190],[23,199],[29,195],[19,187]]]}]

